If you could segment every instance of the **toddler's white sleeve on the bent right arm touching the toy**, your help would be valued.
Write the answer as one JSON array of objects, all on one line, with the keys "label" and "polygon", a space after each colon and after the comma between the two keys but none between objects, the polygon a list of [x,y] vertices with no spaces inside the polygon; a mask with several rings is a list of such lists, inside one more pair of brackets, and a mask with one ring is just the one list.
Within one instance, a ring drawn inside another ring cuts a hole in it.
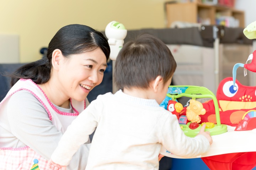
[{"label": "toddler's white sleeve on the bent right arm touching the toy", "polygon": [[192,158],[207,152],[210,143],[203,135],[188,137],[181,130],[175,115],[170,114],[162,125],[160,143],[171,153]]}]

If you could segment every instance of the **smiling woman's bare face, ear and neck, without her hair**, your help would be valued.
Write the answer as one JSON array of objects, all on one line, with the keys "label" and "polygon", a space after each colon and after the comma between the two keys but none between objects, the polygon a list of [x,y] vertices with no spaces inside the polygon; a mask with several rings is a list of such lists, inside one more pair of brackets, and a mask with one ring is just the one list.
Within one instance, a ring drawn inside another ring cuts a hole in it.
[{"label": "smiling woman's bare face, ear and neck, without her hair", "polygon": [[83,101],[102,82],[106,67],[106,56],[100,48],[70,55],[69,58],[63,56],[59,49],[55,49],[52,54],[52,76],[48,82],[39,86],[51,97],[48,97],[51,102],[69,108],[69,98]]}]

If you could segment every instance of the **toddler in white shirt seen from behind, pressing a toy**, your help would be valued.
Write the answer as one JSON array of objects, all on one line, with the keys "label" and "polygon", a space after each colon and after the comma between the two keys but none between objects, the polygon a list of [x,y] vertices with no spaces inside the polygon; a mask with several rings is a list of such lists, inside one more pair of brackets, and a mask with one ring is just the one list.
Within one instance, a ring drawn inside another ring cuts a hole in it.
[{"label": "toddler in white shirt seen from behind, pressing a toy", "polygon": [[65,169],[79,146],[95,131],[86,170],[157,170],[162,146],[191,158],[208,151],[212,138],[203,126],[187,137],[176,115],[160,107],[176,62],[158,38],[142,34],[127,42],[116,60],[114,80],[120,89],[99,95],[64,133],[48,168]]}]

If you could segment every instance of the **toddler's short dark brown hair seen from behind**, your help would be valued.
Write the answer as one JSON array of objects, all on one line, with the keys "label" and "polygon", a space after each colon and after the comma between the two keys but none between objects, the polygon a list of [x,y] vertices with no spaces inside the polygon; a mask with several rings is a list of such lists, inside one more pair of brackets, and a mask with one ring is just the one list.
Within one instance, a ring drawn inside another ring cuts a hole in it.
[{"label": "toddler's short dark brown hair seen from behind", "polygon": [[176,69],[170,49],[160,39],[142,34],[127,42],[118,53],[114,70],[117,88],[148,88],[150,81],[161,76],[164,83]]}]

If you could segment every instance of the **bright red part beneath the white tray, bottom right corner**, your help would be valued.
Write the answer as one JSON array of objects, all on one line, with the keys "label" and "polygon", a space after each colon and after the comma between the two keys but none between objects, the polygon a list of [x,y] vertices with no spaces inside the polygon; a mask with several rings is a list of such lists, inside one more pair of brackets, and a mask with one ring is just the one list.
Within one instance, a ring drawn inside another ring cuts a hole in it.
[{"label": "bright red part beneath the white tray, bottom right corner", "polygon": [[256,152],[240,152],[202,158],[211,170],[251,170],[256,165]]}]

